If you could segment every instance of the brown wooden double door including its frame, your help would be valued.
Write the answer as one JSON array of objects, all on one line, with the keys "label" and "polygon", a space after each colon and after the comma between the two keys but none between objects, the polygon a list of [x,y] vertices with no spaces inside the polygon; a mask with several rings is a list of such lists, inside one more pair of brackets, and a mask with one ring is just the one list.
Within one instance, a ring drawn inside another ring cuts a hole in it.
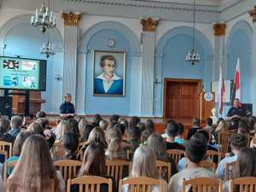
[{"label": "brown wooden double door including its frame", "polygon": [[201,80],[165,79],[164,117],[193,119],[199,117]]}]

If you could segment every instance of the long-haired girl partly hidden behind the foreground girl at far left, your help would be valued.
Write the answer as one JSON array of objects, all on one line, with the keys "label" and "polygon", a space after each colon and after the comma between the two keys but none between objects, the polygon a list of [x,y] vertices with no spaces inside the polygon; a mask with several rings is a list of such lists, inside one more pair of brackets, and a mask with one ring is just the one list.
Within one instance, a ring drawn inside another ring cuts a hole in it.
[{"label": "long-haired girl partly hidden behind the foreground girl at far left", "polygon": [[[32,135],[32,133],[30,131],[24,131],[24,132],[20,132],[18,134],[18,136],[15,139],[15,144],[14,144],[14,148],[13,148],[13,156],[11,156],[5,162],[9,163],[9,162],[14,162],[14,161],[17,161],[20,159],[21,148],[22,148],[23,144],[25,143],[26,138],[30,137],[31,135]],[[12,172],[13,172],[13,168],[9,167],[9,169],[7,169],[7,175],[9,176]]]}]

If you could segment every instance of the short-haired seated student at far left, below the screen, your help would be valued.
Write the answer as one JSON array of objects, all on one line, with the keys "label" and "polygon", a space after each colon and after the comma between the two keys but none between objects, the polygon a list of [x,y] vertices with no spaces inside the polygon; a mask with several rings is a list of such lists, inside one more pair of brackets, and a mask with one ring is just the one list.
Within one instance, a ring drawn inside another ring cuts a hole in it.
[{"label": "short-haired seated student at far left, below the screen", "polygon": [[20,128],[22,126],[23,119],[19,115],[15,115],[11,118],[10,121],[10,127],[11,129],[8,131],[8,133],[5,135],[3,140],[5,142],[15,142],[16,136],[20,133]]}]

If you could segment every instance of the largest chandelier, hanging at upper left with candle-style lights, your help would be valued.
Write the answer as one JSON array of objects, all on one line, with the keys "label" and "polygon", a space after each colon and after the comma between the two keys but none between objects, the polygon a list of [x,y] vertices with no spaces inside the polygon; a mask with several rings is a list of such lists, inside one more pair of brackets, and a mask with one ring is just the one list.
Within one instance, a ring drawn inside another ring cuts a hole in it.
[{"label": "largest chandelier, hanging at upper left with candle-style lights", "polygon": [[53,11],[49,11],[49,8],[46,8],[44,3],[39,11],[36,9],[36,15],[32,15],[31,17],[31,25],[40,26],[41,32],[43,33],[46,32],[48,28],[54,28],[56,26],[55,21]]}]

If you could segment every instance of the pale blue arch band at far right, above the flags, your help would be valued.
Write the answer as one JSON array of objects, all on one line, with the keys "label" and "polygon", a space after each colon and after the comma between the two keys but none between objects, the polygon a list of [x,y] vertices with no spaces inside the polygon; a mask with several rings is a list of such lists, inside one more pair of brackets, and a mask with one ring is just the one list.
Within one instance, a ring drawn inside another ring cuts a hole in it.
[{"label": "pale blue arch band at far right, above the flags", "polygon": [[[228,35],[227,43],[226,43],[226,53],[229,54],[229,48],[231,44],[231,39],[236,35],[236,32],[243,31],[247,35],[247,38],[252,37],[253,35],[253,28],[250,26],[250,24],[247,22],[247,20],[239,20],[236,22],[234,26],[232,26],[230,33]],[[250,44],[250,49],[253,49],[253,44]],[[250,50],[247,50],[250,51]]]}]

